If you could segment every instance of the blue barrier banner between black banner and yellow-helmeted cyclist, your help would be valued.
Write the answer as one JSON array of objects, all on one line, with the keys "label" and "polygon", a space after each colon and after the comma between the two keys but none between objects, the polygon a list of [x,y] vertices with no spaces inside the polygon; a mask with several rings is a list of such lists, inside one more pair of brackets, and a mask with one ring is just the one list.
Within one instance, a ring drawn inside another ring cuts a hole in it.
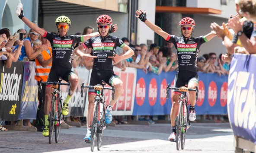
[{"label": "blue barrier banner between black banner and yellow-helmeted cyclist", "polygon": [[19,119],[36,119],[38,86],[35,80],[35,62],[25,62]]}]

